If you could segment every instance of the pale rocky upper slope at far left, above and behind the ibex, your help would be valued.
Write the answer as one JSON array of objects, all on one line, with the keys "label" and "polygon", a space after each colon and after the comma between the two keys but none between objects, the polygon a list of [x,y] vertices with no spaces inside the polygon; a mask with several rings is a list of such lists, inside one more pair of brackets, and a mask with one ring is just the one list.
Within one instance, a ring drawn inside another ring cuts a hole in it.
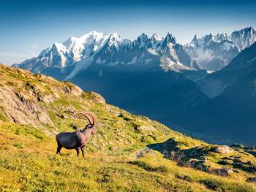
[{"label": "pale rocky upper slope at far left, above and behind the ibex", "polygon": [[[0,73],[1,121],[40,128],[44,128],[46,125],[55,130],[45,106],[65,97],[65,95],[77,96],[78,99],[82,99],[83,91],[71,82],[59,82],[43,74],[32,74],[23,69],[15,69],[1,64]],[[74,109],[67,110],[74,112]],[[59,117],[68,118],[65,114],[59,114]],[[47,132],[46,129],[45,131]]]}]

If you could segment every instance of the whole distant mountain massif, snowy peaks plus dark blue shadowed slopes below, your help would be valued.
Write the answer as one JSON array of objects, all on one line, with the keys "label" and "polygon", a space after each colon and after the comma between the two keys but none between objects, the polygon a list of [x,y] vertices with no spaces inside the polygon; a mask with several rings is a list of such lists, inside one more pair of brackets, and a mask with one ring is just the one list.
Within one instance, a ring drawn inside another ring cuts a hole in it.
[{"label": "whole distant mountain massif, snowy peaks plus dark blue shadowed slopes below", "polygon": [[255,41],[252,27],[186,45],[171,34],[131,41],[91,31],[13,66],[75,82],[194,137],[256,145]]}]

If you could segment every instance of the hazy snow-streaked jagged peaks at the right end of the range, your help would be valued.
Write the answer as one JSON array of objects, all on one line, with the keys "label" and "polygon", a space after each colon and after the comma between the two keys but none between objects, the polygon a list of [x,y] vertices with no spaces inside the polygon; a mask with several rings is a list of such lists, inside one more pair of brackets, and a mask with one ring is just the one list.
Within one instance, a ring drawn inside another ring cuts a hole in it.
[{"label": "hazy snow-streaked jagged peaks at the right end of the range", "polygon": [[195,37],[185,45],[185,50],[203,69],[217,71],[256,41],[254,28],[244,28],[232,34],[206,35]]}]

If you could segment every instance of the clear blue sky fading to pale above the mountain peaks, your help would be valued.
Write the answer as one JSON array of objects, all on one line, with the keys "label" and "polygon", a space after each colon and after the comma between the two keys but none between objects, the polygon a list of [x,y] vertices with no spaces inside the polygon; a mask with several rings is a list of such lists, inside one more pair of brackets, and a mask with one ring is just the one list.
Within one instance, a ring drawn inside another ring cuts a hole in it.
[{"label": "clear blue sky fading to pale above the mountain peaks", "polygon": [[0,0],[0,63],[19,63],[91,30],[128,39],[170,32],[184,44],[195,34],[246,26],[256,26],[255,0]]}]

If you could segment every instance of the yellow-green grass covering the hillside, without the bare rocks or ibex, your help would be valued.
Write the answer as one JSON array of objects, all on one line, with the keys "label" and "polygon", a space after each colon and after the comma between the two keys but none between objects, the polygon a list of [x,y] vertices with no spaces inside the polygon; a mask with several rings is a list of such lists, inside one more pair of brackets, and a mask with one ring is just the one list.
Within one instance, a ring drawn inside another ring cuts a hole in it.
[{"label": "yellow-green grass covering the hillside, without the bare rocks or ibex", "polygon": [[[39,81],[37,76],[29,72],[18,78],[15,70],[1,72],[7,74],[7,79],[1,80],[4,86],[15,84],[20,87],[20,91],[23,91],[21,87],[25,82],[34,83],[39,88],[42,83],[45,86],[45,82]],[[51,90],[55,86],[64,84],[51,81],[51,85],[45,86],[44,94],[52,94]],[[48,111],[53,126],[35,128],[10,123],[0,110],[0,191],[256,190],[255,184],[245,182],[246,177],[252,174],[240,169],[230,177],[219,177],[177,166],[176,162],[163,158],[161,153],[154,150],[137,158],[136,154],[147,145],[165,142],[170,138],[183,150],[196,146],[207,147],[208,144],[171,131],[154,120],[97,103],[94,97],[86,92],[81,96],[60,93],[59,99],[51,104],[39,102]],[[76,157],[75,150],[63,150],[62,156],[55,154],[54,130],[74,131],[72,123],[79,127],[86,123],[86,120],[72,117],[72,112],[69,112],[72,108],[92,111],[99,120],[97,135],[92,137],[86,148],[86,158]],[[59,118],[60,114],[66,115],[67,119]],[[213,154],[208,158],[214,163],[222,157]],[[244,154],[244,158],[247,161],[252,155]],[[252,158],[252,161],[255,159]]]}]

